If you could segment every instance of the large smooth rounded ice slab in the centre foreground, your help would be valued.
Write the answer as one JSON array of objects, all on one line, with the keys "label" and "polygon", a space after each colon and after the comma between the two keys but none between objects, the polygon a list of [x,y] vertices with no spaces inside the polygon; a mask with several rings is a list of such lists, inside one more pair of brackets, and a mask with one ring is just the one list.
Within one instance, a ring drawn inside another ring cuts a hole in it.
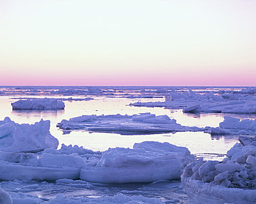
[{"label": "large smooth rounded ice slab in the centre foreground", "polygon": [[169,143],[135,143],[133,149],[113,148],[103,153],[94,167],[81,170],[81,180],[99,183],[177,180],[195,159],[186,147]]}]

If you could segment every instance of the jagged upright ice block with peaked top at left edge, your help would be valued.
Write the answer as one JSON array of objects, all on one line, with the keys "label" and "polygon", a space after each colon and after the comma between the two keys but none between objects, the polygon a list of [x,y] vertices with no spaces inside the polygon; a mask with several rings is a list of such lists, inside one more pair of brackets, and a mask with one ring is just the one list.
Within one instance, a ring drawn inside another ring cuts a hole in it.
[{"label": "jagged upright ice block with peaked top at left edge", "polygon": [[6,117],[0,121],[0,151],[39,152],[46,148],[57,148],[58,140],[50,131],[50,121],[35,124],[16,124]]}]

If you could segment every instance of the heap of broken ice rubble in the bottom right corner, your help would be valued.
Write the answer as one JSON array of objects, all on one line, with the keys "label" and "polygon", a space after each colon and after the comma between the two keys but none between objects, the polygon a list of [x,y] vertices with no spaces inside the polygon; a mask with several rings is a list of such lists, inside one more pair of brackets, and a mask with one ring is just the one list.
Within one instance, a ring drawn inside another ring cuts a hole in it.
[{"label": "heap of broken ice rubble in the bottom right corner", "polygon": [[256,138],[240,136],[222,162],[194,160],[181,176],[189,203],[256,203]]}]

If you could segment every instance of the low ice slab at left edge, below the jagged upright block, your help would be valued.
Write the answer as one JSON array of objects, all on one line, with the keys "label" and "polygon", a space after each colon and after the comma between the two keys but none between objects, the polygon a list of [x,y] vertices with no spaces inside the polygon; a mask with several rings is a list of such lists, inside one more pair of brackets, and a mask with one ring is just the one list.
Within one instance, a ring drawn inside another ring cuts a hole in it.
[{"label": "low ice slab at left edge, below the jagged upright block", "polygon": [[94,165],[99,157],[101,153],[65,145],[60,150],[45,149],[36,154],[0,152],[0,180],[77,180],[81,168]]}]

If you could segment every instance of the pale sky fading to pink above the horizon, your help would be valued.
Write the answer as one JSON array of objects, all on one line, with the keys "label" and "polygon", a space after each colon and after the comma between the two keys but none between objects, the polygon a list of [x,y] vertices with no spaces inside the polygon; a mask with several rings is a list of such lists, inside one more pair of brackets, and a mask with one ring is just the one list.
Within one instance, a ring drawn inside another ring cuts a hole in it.
[{"label": "pale sky fading to pink above the horizon", "polygon": [[256,86],[256,0],[0,0],[0,85]]}]

